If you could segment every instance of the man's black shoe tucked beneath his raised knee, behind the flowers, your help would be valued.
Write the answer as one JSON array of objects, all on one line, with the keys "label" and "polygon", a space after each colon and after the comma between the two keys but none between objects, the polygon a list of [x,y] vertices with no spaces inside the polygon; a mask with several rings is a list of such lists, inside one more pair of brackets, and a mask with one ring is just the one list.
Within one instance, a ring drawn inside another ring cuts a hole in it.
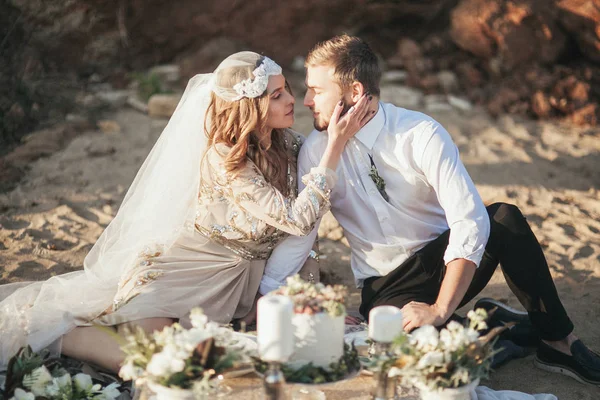
[{"label": "man's black shoe tucked beneath his raised knee, behind the flowers", "polygon": [[483,308],[489,313],[494,310],[488,320],[490,328],[503,326],[509,322],[515,323],[515,325],[500,334],[500,339],[510,340],[521,347],[537,347],[540,343],[539,332],[531,324],[526,311],[514,309],[490,297],[477,300],[473,309],[478,308]]}]

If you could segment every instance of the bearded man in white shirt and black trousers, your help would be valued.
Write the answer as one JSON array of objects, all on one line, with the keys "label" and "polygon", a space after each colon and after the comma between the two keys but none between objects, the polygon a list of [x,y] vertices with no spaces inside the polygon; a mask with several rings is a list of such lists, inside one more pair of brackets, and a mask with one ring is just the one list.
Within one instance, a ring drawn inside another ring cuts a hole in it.
[{"label": "bearded man in white shirt and black trousers", "polygon": [[[300,151],[299,177],[318,164],[336,103],[351,113],[363,93],[378,99],[380,77],[377,57],[357,37],[338,36],[309,53],[304,105],[313,112],[315,131]],[[371,103],[374,116],[346,146],[331,193],[331,211],[344,229],[362,288],[360,313],[368,318],[373,307],[394,305],[402,309],[407,331],[442,325],[486,286],[500,263],[540,333],[536,364],[600,385],[600,358],[573,334],[519,209],[484,206],[452,138],[434,119]],[[317,228],[275,249],[261,293],[298,272],[316,235]]]}]

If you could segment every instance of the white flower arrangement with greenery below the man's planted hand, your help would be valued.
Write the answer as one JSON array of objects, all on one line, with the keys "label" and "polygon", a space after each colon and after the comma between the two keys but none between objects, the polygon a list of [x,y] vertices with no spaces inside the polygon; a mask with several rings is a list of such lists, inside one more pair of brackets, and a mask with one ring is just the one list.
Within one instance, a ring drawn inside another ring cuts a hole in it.
[{"label": "white flower arrangement with greenery below the man's planted hand", "polygon": [[485,336],[488,315],[484,309],[469,311],[467,326],[450,321],[438,332],[422,326],[412,334],[402,333],[392,344],[389,376],[400,376],[402,383],[435,390],[468,385],[488,376],[494,339],[505,327],[497,327]]}]

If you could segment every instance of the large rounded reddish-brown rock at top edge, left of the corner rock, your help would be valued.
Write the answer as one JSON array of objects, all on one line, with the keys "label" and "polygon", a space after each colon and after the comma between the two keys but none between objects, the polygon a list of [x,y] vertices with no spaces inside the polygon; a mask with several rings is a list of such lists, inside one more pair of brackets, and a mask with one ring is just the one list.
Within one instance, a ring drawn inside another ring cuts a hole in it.
[{"label": "large rounded reddish-brown rock at top edge, left of the corner rock", "polygon": [[567,45],[557,10],[547,0],[461,0],[452,10],[450,35],[457,46],[484,59],[517,65],[555,62]]}]

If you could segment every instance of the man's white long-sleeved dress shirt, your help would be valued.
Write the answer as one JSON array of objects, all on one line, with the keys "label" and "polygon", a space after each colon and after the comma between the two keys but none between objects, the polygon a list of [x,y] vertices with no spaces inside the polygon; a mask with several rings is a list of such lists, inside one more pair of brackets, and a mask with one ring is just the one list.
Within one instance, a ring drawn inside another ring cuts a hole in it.
[{"label": "man's white long-sleeved dress shirt", "polygon": [[[319,164],[326,147],[327,132],[313,131],[300,150],[298,176]],[[369,176],[369,155],[385,181],[389,202]],[[444,262],[481,262],[489,217],[458,148],[433,118],[380,102],[377,114],[346,145],[337,174],[331,211],[350,244],[357,287],[366,278],[393,271],[448,228]],[[290,236],[274,249],[261,293],[300,270],[317,230]]]}]

